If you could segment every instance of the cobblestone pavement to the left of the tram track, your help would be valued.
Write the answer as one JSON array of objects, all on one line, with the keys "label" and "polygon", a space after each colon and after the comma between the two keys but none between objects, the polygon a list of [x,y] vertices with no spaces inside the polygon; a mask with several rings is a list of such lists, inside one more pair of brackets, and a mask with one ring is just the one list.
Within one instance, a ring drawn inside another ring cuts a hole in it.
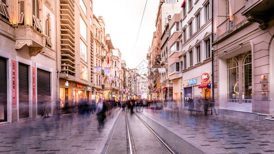
[{"label": "cobblestone pavement to the left of the tram track", "polygon": [[62,114],[0,125],[0,153],[100,153],[120,110],[98,131],[96,114]]}]

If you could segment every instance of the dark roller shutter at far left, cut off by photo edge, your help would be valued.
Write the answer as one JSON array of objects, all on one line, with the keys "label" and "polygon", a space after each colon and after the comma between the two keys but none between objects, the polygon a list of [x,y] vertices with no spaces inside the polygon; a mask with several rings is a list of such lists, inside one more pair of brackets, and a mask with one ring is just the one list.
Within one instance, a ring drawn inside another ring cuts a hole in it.
[{"label": "dark roller shutter at far left, cut off by photo edge", "polygon": [[7,121],[7,59],[0,57],[0,122]]}]

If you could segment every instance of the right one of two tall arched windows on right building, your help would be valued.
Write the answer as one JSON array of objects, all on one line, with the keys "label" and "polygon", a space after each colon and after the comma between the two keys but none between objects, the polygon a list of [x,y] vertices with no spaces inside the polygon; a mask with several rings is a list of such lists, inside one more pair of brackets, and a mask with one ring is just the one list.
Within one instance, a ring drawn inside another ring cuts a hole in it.
[{"label": "right one of two tall arched windows on right building", "polygon": [[243,103],[251,103],[252,100],[252,54],[248,51],[242,54],[242,91]]}]

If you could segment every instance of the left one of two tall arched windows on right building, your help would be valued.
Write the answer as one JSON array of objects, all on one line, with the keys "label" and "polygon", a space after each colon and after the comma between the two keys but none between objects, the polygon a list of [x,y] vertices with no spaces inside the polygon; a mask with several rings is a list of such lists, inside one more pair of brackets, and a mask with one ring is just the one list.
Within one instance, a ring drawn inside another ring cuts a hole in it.
[{"label": "left one of two tall arched windows on right building", "polygon": [[239,102],[238,59],[232,57],[227,61],[228,102]]}]

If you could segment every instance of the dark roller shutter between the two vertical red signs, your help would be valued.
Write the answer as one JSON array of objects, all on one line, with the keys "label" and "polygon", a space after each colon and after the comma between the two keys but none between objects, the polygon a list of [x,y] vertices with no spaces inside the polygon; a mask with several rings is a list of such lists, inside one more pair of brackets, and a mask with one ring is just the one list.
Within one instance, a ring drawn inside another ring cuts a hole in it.
[{"label": "dark roller shutter between the two vertical red signs", "polygon": [[29,118],[29,71],[28,65],[19,63],[19,119]]}]

